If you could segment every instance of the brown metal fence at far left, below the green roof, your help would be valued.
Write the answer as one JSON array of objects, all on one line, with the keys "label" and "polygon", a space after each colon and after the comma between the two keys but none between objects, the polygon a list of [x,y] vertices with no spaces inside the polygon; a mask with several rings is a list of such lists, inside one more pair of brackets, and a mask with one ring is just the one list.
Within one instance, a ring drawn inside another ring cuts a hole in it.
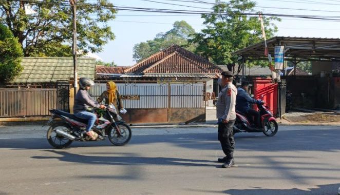
[{"label": "brown metal fence at far left, below the green roof", "polygon": [[46,116],[56,108],[56,89],[0,89],[0,118]]}]

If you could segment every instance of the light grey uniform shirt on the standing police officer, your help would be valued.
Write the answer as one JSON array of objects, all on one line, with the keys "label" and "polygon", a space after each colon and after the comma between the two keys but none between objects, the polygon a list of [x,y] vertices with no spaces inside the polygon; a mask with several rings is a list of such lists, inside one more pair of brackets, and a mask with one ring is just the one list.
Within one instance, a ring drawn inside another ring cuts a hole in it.
[{"label": "light grey uniform shirt on the standing police officer", "polygon": [[216,118],[223,120],[236,119],[236,95],[237,89],[232,83],[224,86],[218,94],[216,102]]}]

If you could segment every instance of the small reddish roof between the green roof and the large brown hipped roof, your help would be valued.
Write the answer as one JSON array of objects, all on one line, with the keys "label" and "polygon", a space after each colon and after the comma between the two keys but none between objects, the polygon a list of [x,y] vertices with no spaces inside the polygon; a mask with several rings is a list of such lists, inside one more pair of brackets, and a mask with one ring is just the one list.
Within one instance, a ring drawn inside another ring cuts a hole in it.
[{"label": "small reddish roof between the green roof and the large brown hipped roof", "polygon": [[124,70],[130,68],[130,66],[96,66],[96,79],[107,80],[112,77],[120,77],[124,74]]}]

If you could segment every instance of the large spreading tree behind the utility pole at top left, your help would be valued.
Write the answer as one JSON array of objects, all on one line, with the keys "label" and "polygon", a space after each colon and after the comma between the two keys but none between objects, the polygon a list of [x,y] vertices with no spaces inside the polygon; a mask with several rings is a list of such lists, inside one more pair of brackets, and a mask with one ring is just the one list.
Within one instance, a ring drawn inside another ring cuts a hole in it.
[{"label": "large spreading tree behind the utility pole at top left", "polygon": [[[25,1],[0,0],[0,23],[6,24],[24,49],[25,56],[70,56],[72,43],[72,11],[68,1],[32,1],[37,13],[26,15]],[[108,0],[89,4],[78,0],[78,48],[84,52],[102,51],[103,45],[114,40],[107,22],[116,11]],[[26,3],[27,4],[27,3]]]}]

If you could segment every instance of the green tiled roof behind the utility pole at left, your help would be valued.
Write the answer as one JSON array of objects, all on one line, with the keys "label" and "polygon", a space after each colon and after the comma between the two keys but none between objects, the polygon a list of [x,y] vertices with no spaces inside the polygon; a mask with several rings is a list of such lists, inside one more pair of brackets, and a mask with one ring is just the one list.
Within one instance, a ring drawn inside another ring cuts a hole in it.
[{"label": "green tiled roof behind the utility pole at left", "polygon": [[[95,79],[95,59],[80,58],[77,62],[79,77]],[[12,83],[51,83],[73,78],[71,57],[24,57],[21,65],[24,70]]]}]

